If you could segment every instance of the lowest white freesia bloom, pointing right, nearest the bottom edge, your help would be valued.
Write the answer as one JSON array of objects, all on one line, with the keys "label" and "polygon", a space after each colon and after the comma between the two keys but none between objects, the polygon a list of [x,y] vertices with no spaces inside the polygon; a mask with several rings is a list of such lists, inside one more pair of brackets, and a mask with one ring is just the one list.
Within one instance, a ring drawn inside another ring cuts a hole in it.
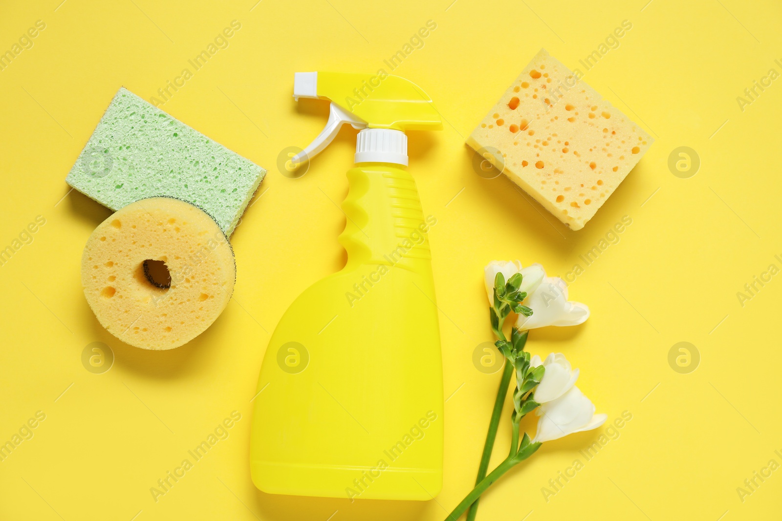
[{"label": "lowest white freesia bloom, pointing right, nearest the bottom edge", "polygon": [[559,398],[547,401],[536,409],[540,419],[533,443],[596,429],[605,423],[608,416],[595,414],[594,410],[592,401],[584,396],[578,387],[570,387],[570,390]]}]

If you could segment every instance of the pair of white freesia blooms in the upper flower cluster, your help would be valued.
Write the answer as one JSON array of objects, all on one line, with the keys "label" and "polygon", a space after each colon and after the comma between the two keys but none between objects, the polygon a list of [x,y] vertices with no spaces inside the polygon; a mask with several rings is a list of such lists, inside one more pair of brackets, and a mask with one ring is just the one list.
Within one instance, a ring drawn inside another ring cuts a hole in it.
[{"label": "pair of white freesia blooms in the upper flower cluster", "polygon": [[527,298],[522,302],[533,310],[532,316],[519,315],[516,327],[531,330],[547,326],[577,326],[589,318],[589,308],[581,302],[568,301],[568,286],[559,277],[546,277],[540,264],[522,267],[518,261],[492,261],[484,269],[486,294],[490,305],[494,302],[494,277],[502,273],[505,280],[515,273],[522,274],[522,286]]}]

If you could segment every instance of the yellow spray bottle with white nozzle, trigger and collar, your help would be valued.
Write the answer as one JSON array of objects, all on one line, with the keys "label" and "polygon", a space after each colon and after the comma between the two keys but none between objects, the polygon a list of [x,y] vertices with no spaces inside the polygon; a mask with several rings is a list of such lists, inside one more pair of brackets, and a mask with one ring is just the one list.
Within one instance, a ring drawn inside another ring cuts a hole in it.
[{"label": "yellow spray bottle with white nozzle, trigger and collar", "polygon": [[443,480],[443,369],[427,231],[406,130],[441,130],[432,100],[386,73],[296,73],[294,98],[331,102],[292,158],[361,129],[346,266],[310,286],[271,336],[254,398],[250,466],[270,494],[429,500]]}]

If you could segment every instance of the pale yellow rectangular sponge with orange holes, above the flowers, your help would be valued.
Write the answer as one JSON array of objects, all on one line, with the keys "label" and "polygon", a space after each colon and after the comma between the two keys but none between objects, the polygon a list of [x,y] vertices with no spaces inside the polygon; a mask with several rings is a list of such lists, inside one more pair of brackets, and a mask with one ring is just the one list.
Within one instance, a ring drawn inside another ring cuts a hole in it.
[{"label": "pale yellow rectangular sponge with orange holes, above the flowers", "polygon": [[541,49],[467,144],[580,230],[654,141]]}]

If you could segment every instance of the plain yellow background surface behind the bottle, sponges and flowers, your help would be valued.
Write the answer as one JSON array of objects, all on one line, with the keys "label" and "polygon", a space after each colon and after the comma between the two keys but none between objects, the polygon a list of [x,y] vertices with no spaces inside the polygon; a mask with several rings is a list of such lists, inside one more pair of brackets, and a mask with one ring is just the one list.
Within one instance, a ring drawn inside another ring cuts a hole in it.
[{"label": "plain yellow background surface behind the bottle, sponges and flowers", "polygon": [[[564,352],[598,412],[633,419],[589,462],[579,449],[604,427],[544,444],[490,489],[479,519],[778,519],[782,470],[743,502],[736,489],[770,459],[782,464],[782,275],[743,307],[737,291],[769,264],[782,267],[782,79],[743,112],[736,98],[770,68],[782,72],[779,2],[60,2],[0,4],[2,52],[46,23],[0,71],[0,247],[35,216],[46,219],[0,267],[0,442],[36,411],[46,415],[0,462],[0,518],[443,519],[472,487],[499,377],[472,364],[475,346],[492,340],[482,267],[520,259],[564,277],[626,215],[633,223],[619,243],[570,284],[589,321],[533,331],[528,346]],[[81,250],[109,211],[66,196],[64,179],[120,85],[155,95],[231,20],[242,28],[230,46],[162,108],[269,170],[231,240],[234,298],[184,347],[131,348],[102,330],[81,292]],[[354,143],[343,130],[307,175],[282,176],[279,152],[306,145],[328,110],[293,101],[293,73],[375,73],[427,20],[436,30],[394,73],[420,85],[447,120],[442,132],[411,134],[410,169],[425,213],[438,219],[430,238],[448,398],[443,491],[432,501],[352,504],[263,494],[249,479],[249,400],[286,306],[344,262],[335,203]],[[584,80],[657,141],[572,232],[504,177],[475,175],[463,143],[541,47],[581,68],[622,20],[632,30]],[[667,166],[683,145],[701,158],[689,179]],[[94,341],[116,355],[107,373],[82,366]],[[700,353],[694,372],[669,366],[680,341]],[[242,419],[230,437],[155,502],[149,488],[234,410]],[[506,411],[494,461],[508,430]],[[541,488],[574,459],[583,469],[546,501]]]}]

